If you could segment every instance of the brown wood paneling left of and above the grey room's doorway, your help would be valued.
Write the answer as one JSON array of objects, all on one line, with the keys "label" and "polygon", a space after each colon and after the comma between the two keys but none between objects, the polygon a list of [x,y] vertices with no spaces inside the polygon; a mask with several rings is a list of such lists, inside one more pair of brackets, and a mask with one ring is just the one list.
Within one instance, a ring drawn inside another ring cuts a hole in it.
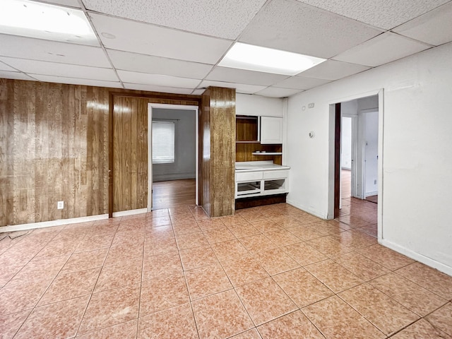
[{"label": "brown wood paneling left of and above the grey room's doorway", "polygon": [[148,103],[196,105],[196,100],[113,96],[113,212],[148,206]]}]

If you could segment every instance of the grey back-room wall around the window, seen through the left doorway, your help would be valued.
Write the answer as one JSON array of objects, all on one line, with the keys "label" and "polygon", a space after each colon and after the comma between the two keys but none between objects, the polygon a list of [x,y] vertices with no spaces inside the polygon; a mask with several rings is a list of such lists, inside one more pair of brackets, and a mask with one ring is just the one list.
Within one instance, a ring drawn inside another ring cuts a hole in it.
[{"label": "grey back-room wall around the window, seen through the left doorway", "polygon": [[196,176],[196,115],[186,109],[153,109],[154,119],[175,120],[175,162],[153,164],[153,182],[194,179]]}]

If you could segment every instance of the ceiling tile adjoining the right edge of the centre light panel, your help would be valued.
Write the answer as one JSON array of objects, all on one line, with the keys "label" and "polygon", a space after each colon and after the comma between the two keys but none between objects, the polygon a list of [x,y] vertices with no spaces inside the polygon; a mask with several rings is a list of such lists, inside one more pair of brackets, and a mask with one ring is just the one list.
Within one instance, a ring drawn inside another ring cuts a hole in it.
[{"label": "ceiling tile adjoining the right edge of the centre light panel", "polygon": [[370,67],[357,64],[349,64],[342,61],[326,60],[321,64],[308,69],[307,71],[297,74],[297,76],[338,80],[340,78],[345,78],[346,76],[351,76],[352,74],[366,71],[367,69],[370,69]]}]

